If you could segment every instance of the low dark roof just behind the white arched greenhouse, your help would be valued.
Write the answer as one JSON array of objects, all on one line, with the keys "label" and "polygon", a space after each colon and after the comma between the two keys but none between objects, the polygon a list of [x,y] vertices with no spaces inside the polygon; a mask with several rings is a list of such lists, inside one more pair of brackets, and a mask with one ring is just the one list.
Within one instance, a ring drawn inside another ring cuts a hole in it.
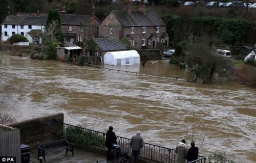
[{"label": "low dark roof just behind the white arched greenhouse", "polygon": [[126,50],[126,47],[114,38],[94,38],[93,40],[102,51]]}]

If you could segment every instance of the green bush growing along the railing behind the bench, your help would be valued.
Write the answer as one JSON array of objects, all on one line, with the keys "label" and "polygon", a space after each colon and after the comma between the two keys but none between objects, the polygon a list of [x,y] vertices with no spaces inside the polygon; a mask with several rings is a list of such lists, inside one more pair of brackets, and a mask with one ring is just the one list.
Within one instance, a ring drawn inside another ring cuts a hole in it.
[{"label": "green bush growing along the railing behind the bench", "polygon": [[83,130],[82,128],[66,128],[66,138],[72,143],[82,144],[84,146],[103,145],[103,136],[90,130]]}]

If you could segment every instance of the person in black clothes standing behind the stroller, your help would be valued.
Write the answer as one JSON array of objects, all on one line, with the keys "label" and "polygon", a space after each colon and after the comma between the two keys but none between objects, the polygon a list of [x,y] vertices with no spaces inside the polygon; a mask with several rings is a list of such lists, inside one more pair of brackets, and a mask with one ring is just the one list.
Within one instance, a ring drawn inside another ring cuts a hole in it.
[{"label": "person in black clothes standing behind the stroller", "polygon": [[116,134],[113,131],[113,127],[110,126],[109,130],[106,132],[106,142],[105,142],[105,146],[108,147],[108,153],[106,154],[106,160],[111,160],[111,149],[112,149],[112,144],[117,144],[116,140]]}]

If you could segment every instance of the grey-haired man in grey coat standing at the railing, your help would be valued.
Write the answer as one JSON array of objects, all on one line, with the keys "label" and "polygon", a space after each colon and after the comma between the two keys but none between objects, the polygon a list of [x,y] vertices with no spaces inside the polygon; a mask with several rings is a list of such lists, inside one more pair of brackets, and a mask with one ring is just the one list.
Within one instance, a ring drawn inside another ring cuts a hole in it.
[{"label": "grey-haired man in grey coat standing at the railing", "polygon": [[130,141],[130,146],[132,147],[132,160],[131,163],[139,162],[140,149],[143,147],[143,139],[140,137],[140,131],[136,131],[136,135],[134,135]]}]

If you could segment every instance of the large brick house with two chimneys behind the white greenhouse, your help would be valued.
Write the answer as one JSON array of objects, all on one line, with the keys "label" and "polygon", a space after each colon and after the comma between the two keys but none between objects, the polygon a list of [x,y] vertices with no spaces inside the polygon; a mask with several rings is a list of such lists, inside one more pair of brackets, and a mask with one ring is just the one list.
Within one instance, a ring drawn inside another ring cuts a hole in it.
[{"label": "large brick house with two chimneys behind the white greenhouse", "polygon": [[156,11],[146,11],[145,3],[137,5],[138,10],[132,10],[131,1],[123,0],[123,10],[112,10],[100,23],[99,37],[127,37],[135,49],[155,49],[161,43],[167,48],[166,24]]}]

